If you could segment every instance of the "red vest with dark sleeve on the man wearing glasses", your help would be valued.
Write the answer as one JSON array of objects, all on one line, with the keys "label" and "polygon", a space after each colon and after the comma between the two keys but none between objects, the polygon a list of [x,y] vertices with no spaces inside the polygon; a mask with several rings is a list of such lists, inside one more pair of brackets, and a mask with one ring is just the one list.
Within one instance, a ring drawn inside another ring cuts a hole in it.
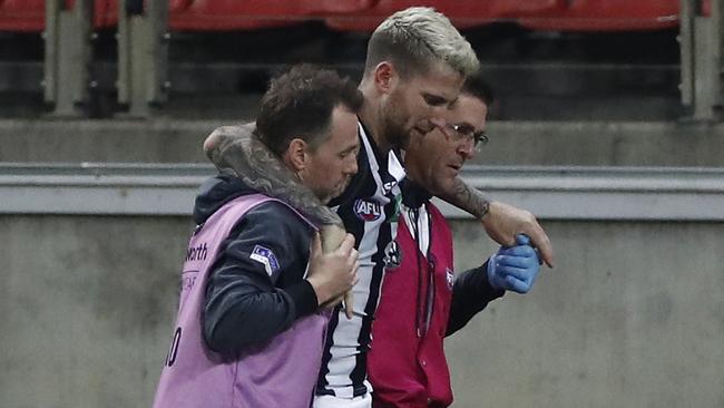
[{"label": "red vest with dark sleeve on the man wearing glasses", "polygon": [[403,190],[397,239],[385,250],[388,266],[372,324],[368,373],[374,408],[452,404],[443,339],[502,295],[490,288],[485,264],[454,280],[450,226],[429,195],[415,203],[409,190]]}]

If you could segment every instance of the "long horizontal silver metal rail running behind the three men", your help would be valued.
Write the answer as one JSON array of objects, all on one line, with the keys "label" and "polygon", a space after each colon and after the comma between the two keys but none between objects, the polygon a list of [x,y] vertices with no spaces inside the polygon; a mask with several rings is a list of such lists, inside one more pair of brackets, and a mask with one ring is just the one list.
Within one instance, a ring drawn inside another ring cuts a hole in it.
[{"label": "long horizontal silver metal rail running behind the three men", "polygon": [[[0,214],[189,215],[214,174],[194,164],[2,164]],[[462,176],[545,220],[724,221],[722,168],[468,166]]]}]

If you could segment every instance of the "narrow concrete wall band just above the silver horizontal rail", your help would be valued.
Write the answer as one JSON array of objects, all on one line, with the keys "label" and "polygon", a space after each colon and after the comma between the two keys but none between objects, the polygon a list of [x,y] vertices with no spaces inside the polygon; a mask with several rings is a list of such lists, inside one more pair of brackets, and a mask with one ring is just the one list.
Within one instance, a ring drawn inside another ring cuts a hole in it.
[{"label": "narrow concrete wall band just above the silver horizontal rail", "polygon": [[[0,120],[0,162],[206,163],[204,138],[229,120]],[[471,163],[724,166],[724,125],[498,122]]]}]

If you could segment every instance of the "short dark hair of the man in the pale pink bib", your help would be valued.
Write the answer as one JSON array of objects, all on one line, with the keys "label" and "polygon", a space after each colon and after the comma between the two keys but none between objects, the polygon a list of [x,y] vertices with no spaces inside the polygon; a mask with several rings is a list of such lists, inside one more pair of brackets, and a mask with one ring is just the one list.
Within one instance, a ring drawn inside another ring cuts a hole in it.
[{"label": "short dark hair of the man in the pale pink bib", "polygon": [[256,117],[256,136],[280,156],[295,137],[314,149],[329,137],[334,108],[341,105],[356,114],[362,100],[354,82],[336,71],[294,66],[271,80]]}]

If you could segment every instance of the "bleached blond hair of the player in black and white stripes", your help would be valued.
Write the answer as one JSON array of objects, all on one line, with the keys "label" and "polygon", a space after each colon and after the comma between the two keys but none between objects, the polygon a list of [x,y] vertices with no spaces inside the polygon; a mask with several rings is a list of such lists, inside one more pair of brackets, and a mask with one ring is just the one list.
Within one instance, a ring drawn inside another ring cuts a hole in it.
[{"label": "bleached blond hair of the player in black and white stripes", "polygon": [[470,42],[444,14],[429,7],[398,11],[378,26],[368,43],[365,75],[382,61],[391,61],[402,76],[443,62],[467,77],[480,66]]}]

